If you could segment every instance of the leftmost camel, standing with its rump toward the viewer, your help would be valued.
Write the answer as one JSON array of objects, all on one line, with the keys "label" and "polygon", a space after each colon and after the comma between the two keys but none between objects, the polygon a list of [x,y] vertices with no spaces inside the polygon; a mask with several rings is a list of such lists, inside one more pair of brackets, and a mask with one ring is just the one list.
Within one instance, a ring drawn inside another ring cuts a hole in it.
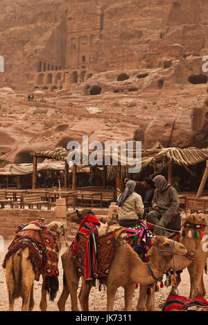
[{"label": "leftmost camel, standing with its rump toward the viewer", "polygon": [[[29,226],[29,227],[28,227]],[[30,230],[40,230],[37,225],[27,225],[24,230],[28,227]],[[64,234],[64,226],[58,221],[52,221],[49,225],[46,225],[49,230],[56,237],[56,243],[60,250],[61,243],[60,237]],[[6,284],[8,288],[9,298],[9,311],[14,310],[15,299],[18,297],[22,298],[22,311],[31,311],[34,307],[33,299],[33,283],[35,281],[35,273],[31,261],[28,259],[28,248],[22,251],[17,251],[15,254],[6,261]],[[44,276],[42,282],[42,299],[40,301],[40,309],[46,310],[47,292],[44,290]]]}]

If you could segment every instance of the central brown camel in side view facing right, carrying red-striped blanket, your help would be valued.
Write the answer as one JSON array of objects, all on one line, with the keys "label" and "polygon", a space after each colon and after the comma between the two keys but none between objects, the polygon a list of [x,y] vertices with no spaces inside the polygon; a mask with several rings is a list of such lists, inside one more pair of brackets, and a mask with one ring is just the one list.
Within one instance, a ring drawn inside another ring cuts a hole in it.
[{"label": "central brown camel in side view facing right, carrying red-striped blanket", "polygon": [[[102,227],[102,228],[105,228]],[[100,228],[101,230],[101,228]],[[99,231],[100,234],[100,231]],[[132,310],[132,297],[135,292],[135,284],[153,284],[154,277],[159,278],[168,268],[175,254],[186,254],[187,250],[181,243],[176,243],[164,236],[153,238],[153,248],[150,248],[150,262],[144,263],[139,259],[137,253],[132,250],[129,244],[116,247],[114,259],[107,276],[107,310],[114,309],[114,297],[116,290],[122,286],[125,290],[125,310]],[[160,250],[166,250],[162,256]],[[64,310],[69,293],[71,295],[71,310],[78,310],[77,290],[78,290],[78,270],[75,261],[71,257],[69,250],[62,255],[62,266],[67,286],[64,286],[62,295],[58,301],[58,308]],[[148,268],[152,270],[152,275]],[[82,277],[82,288],[79,293],[79,300],[82,310],[89,310],[88,297],[92,288],[92,281],[85,281]]]}]

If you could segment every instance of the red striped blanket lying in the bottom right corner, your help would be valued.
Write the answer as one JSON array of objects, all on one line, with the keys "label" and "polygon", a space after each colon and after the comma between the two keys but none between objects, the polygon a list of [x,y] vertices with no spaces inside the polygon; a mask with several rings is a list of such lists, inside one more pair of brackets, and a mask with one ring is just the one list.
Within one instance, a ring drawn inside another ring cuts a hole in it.
[{"label": "red striped blanket lying in the bottom right corner", "polygon": [[202,297],[198,296],[194,299],[189,299],[184,296],[178,296],[172,294],[168,296],[166,304],[162,311],[186,311],[189,308],[194,308],[193,310],[208,310],[208,301]]}]

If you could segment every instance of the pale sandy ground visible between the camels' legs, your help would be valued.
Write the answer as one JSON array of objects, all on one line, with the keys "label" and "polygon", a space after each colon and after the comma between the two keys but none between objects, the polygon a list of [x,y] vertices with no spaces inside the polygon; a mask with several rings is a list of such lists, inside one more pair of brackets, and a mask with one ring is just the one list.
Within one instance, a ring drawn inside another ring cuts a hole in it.
[{"label": "pale sandy ground visible between the camels' legs", "polygon": [[[0,252],[0,311],[6,311],[8,310],[8,293],[6,288],[6,277],[5,277],[5,270],[2,268],[1,264],[3,262],[3,258],[6,254],[7,247],[8,247],[9,241],[6,241],[4,251]],[[63,254],[63,252],[66,250],[66,247],[64,243],[62,243],[62,250],[60,254]],[[55,298],[55,301],[49,301],[47,310],[49,311],[58,311],[57,301],[60,297],[61,291],[62,291],[62,265],[61,261],[59,261],[59,271],[60,271],[60,290],[58,292],[57,297]],[[207,289],[208,293],[208,276],[204,275],[205,280],[205,288]],[[42,285],[42,278],[40,281],[35,281],[34,284],[34,299],[35,299],[35,307],[33,310],[37,311],[40,310],[39,304],[40,304],[40,298],[41,298],[41,285]],[[178,287],[179,295],[184,295],[186,297],[189,297],[189,290],[190,290],[190,284],[189,284],[189,272],[188,270],[184,270],[182,272],[182,283]],[[163,288],[162,290],[159,290],[159,293],[156,293],[155,297],[155,306],[156,309],[159,311],[161,310],[159,308],[159,304],[162,304],[168,297],[168,293],[170,291],[170,288]],[[136,309],[137,306],[137,299],[139,297],[139,289],[135,290],[135,295],[133,299],[133,310]],[[208,299],[208,294],[205,296],[206,299]],[[80,305],[79,305],[80,308]],[[91,294],[89,296],[89,310],[92,311],[105,311],[106,308],[106,293],[105,291],[99,292],[98,286],[96,288],[92,288]],[[21,310],[21,299],[17,299],[15,301],[15,310]],[[66,310],[71,310],[71,301],[70,298],[67,299],[66,304]],[[116,293],[115,298],[115,304],[114,304],[114,310],[122,311],[124,310],[124,292],[123,288],[119,288]]]}]

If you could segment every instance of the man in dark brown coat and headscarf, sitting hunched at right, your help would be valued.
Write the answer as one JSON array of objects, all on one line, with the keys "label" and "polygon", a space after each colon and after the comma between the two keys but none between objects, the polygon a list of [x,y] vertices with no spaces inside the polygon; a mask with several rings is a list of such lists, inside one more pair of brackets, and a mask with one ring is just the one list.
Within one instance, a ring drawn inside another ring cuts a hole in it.
[{"label": "man in dark brown coat and headscarf, sitting hunched at right", "polygon": [[[177,216],[180,200],[175,188],[167,183],[164,176],[157,175],[153,178],[153,182],[156,187],[152,201],[154,210],[149,212],[148,221],[166,228],[173,216]],[[162,236],[162,228],[155,227],[154,234]]]}]

